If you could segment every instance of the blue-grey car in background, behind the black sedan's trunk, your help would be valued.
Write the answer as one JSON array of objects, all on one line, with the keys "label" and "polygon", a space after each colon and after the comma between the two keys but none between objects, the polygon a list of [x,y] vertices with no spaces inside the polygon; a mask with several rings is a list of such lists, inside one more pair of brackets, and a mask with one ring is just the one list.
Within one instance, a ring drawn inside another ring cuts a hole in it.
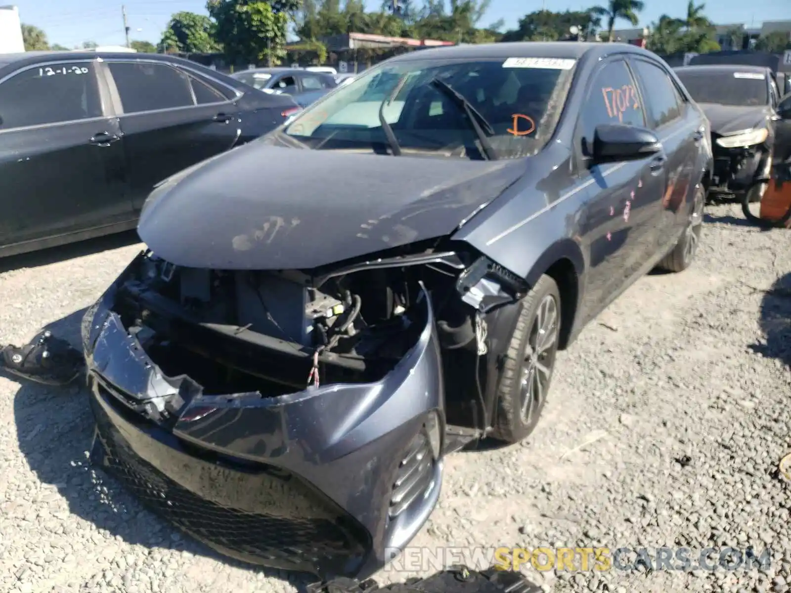
[{"label": "blue-grey car in background, behind the black sedan's trunk", "polygon": [[303,108],[337,86],[331,74],[302,68],[253,68],[231,76],[265,93],[290,95]]}]

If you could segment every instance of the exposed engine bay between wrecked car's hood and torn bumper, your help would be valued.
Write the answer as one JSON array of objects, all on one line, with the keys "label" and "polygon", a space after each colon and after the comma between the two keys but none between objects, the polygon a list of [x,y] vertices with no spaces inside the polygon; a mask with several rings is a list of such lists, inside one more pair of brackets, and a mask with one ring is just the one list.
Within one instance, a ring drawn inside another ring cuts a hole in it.
[{"label": "exposed engine bay between wrecked car's hood and torn bumper", "polygon": [[489,260],[454,251],[311,274],[187,268],[150,252],[138,262],[113,309],[161,372],[189,376],[202,395],[380,380],[425,330],[426,296],[443,349],[479,357],[483,315],[527,290]]}]

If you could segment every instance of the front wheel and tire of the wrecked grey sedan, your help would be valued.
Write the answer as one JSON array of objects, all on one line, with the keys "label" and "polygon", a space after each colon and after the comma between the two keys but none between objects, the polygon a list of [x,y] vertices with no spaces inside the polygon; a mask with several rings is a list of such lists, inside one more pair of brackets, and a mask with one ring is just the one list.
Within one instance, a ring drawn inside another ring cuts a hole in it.
[{"label": "front wheel and tire of the wrecked grey sedan", "polygon": [[513,444],[538,424],[554,372],[560,339],[560,291],[546,274],[522,299],[498,380],[492,436]]}]

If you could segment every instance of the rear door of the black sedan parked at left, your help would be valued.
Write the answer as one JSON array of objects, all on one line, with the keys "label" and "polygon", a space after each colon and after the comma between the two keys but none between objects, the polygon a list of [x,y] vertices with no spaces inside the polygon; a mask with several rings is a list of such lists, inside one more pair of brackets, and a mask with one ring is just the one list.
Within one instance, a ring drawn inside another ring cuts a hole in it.
[{"label": "rear door of the black sedan parked at left", "polygon": [[106,68],[134,210],[162,179],[237,142],[237,105],[204,79],[153,60],[109,60]]}]

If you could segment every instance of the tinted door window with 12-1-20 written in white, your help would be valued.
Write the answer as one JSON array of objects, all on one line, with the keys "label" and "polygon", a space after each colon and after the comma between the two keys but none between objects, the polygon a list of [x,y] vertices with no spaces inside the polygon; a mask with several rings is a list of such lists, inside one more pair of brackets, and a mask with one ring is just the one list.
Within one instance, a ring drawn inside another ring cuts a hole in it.
[{"label": "tinted door window with 12-1-20 written in white", "polygon": [[0,130],[101,115],[93,62],[34,66],[0,84]]}]

